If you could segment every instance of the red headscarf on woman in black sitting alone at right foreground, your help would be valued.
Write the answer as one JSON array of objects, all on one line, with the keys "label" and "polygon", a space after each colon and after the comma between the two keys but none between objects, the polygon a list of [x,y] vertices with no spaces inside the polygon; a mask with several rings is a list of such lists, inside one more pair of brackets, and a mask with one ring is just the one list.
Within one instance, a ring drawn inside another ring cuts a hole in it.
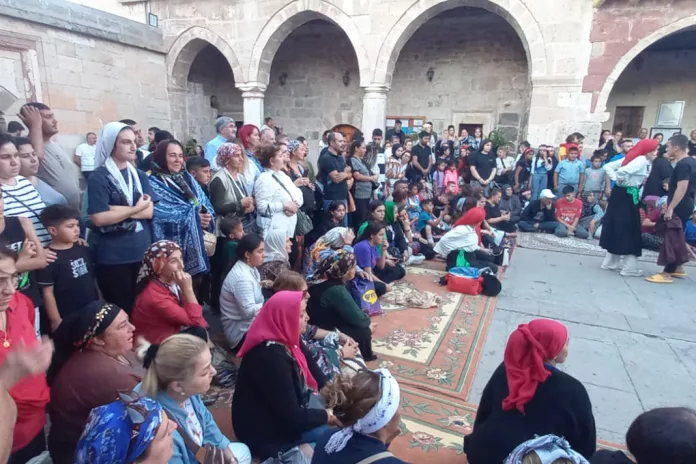
[{"label": "red headscarf on woman in black sitting alone at right foreground", "polygon": [[517,409],[524,414],[524,405],[536,393],[537,386],[549,378],[544,362],[553,359],[568,341],[568,328],[550,319],[535,319],[520,324],[505,347],[505,372],[510,394],[503,400],[503,411]]}]

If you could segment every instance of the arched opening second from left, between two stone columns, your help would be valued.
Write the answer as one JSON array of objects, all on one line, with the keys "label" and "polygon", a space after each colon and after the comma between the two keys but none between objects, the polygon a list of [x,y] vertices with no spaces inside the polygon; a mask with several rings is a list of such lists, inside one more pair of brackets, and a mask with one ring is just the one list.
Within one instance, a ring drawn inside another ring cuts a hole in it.
[{"label": "arched opening second from left, between two stone columns", "polygon": [[[346,33],[315,19],[295,29],[273,57],[265,111],[290,136],[318,140],[338,124],[360,127],[358,60]],[[318,145],[310,144],[310,155]]]}]

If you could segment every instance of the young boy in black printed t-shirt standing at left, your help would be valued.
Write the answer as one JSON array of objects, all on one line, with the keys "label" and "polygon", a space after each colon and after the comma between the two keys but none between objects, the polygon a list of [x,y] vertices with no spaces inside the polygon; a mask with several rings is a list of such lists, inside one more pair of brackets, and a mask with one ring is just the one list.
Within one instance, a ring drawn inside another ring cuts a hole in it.
[{"label": "young boy in black printed t-shirt standing at left", "polygon": [[51,234],[48,248],[56,260],[37,271],[44,308],[55,331],[62,320],[99,299],[89,249],[78,245],[80,213],[67,205],[51,205],[41,213],[41,222]]}]

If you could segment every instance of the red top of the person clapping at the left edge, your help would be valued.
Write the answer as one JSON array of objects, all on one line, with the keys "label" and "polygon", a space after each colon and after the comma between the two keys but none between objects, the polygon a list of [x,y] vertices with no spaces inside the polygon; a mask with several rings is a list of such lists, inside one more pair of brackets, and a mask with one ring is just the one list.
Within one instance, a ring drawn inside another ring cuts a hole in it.
[{"label": "red top of the person clapping at the left edge", "polygon": [[[31,300],[16,292],[7,308],[7,334],[0,330],[0,364],[8,353],[24,341],[26,346],[38,343],[34,321],[36,313]],[[5,348],[7,338],[10,346]],[[18,451],[43,430],[46,425],[46,405],[50,394],[46,374],[38,374],[22,379],[10,390],[10,396],[17,404],[17,424],[14,429],[12,452]]]}]

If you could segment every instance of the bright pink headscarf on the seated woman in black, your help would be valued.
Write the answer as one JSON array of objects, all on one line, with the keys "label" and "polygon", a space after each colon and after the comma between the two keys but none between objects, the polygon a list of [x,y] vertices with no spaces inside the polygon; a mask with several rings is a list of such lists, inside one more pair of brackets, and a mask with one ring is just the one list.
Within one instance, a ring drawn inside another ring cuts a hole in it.
[{"label": "bright pink headscarf on the seated woman in black", "polygon": [[237,356],[243,358],[252,348],[264,342],[281,343],[290,350],[300,366],[307,386],[316,391],[319,389],[317,381],[299,346],[301,303],[302,292],[281,291],[269,298],[251,323]]}]

